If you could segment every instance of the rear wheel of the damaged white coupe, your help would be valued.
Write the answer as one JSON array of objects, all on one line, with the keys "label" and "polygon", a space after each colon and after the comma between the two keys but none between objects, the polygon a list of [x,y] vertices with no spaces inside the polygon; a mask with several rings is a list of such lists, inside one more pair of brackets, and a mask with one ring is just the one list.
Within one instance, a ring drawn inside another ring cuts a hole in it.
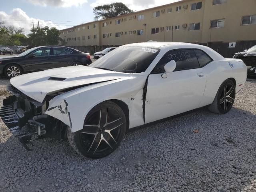
[{"label": "rear wheel of the damaged white coupe", "polygon": [[236,87],[232,80],[227,79],[221,85],[214,98],[213,103],[209,106],[211,112],[217,114],[226,114],[232,108],[236,96]]}]

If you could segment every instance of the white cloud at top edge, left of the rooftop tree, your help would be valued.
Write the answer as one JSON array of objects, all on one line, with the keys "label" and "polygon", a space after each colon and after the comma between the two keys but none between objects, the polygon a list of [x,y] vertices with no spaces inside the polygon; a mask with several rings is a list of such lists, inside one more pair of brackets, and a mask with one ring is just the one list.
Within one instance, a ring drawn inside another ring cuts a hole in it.
[{"label": "white cloud at top edge, left of the rooftop tree", "polygon": [[27,2],[40,5],[40,6],[54,6],[54,7],[71,7],[71,6],[81,6],[87,3],[87,0],[26,0]]}]

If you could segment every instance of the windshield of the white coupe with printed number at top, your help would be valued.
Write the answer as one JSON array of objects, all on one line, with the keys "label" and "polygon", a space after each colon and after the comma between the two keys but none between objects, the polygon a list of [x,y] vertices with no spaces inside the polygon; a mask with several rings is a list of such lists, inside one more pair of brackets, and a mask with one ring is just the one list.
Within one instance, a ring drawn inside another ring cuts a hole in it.
[{"label": "windshield of the white coupe with printed number at top", "polygon": [[104,68],[124,73],[141,73],[150,66],[160,49],[148,47],[118,47],[90,64],[90,67]]}]

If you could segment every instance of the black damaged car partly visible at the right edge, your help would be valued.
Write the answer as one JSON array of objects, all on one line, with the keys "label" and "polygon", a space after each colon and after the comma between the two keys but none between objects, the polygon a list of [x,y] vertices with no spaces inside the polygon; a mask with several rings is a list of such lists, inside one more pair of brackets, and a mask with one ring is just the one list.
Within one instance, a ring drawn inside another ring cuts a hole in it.
[{"label": "black damaged car partly visible at the right edge", "polygon": [[242,59],[248,68],[248,77],[256,77],[256,45],[244,52],[235,53],[233,58]]}]

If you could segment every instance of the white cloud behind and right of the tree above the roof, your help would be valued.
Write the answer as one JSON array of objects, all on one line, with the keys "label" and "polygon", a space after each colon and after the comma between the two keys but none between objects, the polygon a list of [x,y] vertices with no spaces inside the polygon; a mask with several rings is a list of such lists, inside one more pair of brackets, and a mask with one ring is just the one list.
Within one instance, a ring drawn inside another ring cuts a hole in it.
[{"label": "white cloud behind and right of the tree above the roof", "polygon": [[[118,0],[118,2],[124,3],[126,6],[128,6],[128,8],[135,11],[165,5],[177,1],[179,0]],[[106,2],[106,0],[96,0],[94,3],[91,3],[90,6],[94,8],[98,5],[110,4],[114,2],[116,2],[116,0],[108,0],[108,2]]]}]

